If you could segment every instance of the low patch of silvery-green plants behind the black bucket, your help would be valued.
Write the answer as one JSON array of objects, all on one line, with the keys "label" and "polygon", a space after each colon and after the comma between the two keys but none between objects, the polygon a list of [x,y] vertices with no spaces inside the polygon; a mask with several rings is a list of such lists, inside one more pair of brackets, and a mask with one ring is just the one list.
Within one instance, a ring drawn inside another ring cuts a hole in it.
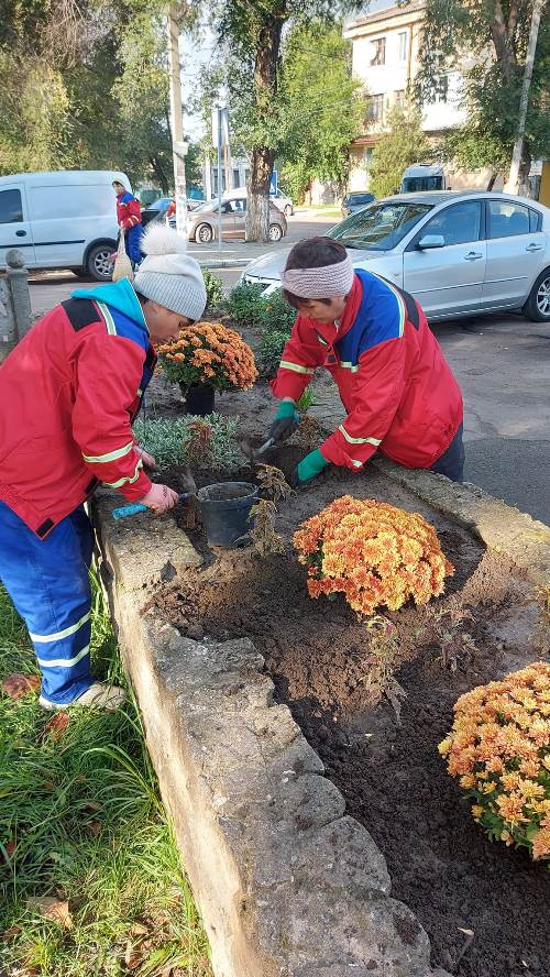
[{"label": "low patch of silvery-green plants behind the black bucket", "polygon": [[[209,425],[211,429],[209,438],[204,441],[200,458],[197,458],[195,450],[188,450],[189,446],[195,446],[198,421]],[[238,417],[222,417],[219,414],[205,418],[147,417],[145,420],[139,417],[133,431],[140,444],[154,457],[161,471],[175,464],[193,463],[196,468],[233,472],[244,462],[237,441],[238,422]]]}]

